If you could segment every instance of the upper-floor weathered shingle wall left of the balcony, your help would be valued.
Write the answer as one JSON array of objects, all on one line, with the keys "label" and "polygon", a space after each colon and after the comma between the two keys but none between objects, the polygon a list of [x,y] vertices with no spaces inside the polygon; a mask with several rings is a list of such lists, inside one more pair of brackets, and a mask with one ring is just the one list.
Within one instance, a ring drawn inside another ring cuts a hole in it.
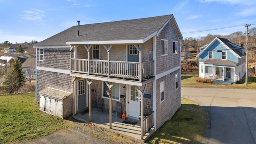
[{"label": "upper-floor weathered shingle wall left of the balcony", "polygon": [[[44,48],[44,61],[37,60],[37,66],[70,70],[70,48]],[[39,48],[37,49],[39,59]]]}]

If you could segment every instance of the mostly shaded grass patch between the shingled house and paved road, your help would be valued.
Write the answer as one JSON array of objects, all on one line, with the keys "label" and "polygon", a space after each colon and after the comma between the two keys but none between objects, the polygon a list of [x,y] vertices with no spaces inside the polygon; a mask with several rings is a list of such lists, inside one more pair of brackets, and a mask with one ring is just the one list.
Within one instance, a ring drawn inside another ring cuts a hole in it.
[{"label": "mostly shaded grass patch between the shingled house and paved road", "polygon": [[207,114],[195,102],[182,98],[182,105],[146,142],[152,144],[199,144],[206,130]]}]

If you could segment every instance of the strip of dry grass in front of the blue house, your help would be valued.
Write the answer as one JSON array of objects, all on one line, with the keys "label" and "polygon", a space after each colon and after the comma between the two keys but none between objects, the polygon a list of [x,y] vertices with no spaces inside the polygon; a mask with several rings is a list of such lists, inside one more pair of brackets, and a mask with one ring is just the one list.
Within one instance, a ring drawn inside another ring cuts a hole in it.
[{"label": "strip of dry grass in front of the blue house", "polygon": [[244,88],[256,89],[256,77],[248,77],[248,86],[245,86],[245,80],[240,83],[225,85],[225,84],[209,84],[196,82],[198,72],[182,72],[181,86],[182,87],[200,87],[200,88]]}]

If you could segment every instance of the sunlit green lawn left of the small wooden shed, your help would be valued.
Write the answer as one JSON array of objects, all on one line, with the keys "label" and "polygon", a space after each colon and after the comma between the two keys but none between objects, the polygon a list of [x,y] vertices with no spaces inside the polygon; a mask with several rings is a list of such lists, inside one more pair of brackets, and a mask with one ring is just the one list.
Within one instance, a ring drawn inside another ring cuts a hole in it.
[{"label": "sunlit green lawn left of the small wooden shed", "polygon": [[0,143],[45,136],[71,126],[68,122],[40,112],[35,93],[0,96]]}]

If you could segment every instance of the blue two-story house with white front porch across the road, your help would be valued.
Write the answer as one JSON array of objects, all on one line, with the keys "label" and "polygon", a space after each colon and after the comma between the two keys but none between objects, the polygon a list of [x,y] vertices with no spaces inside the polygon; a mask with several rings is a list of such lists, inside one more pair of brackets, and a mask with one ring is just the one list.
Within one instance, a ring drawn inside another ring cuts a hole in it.
[{"label": "blue two-story house with white front porch across the road", "polygon": [[199,77],[213,79],[214,83],[231,84],[245,76],[244,48],[225,38],[214,38],[200,48]]}]

